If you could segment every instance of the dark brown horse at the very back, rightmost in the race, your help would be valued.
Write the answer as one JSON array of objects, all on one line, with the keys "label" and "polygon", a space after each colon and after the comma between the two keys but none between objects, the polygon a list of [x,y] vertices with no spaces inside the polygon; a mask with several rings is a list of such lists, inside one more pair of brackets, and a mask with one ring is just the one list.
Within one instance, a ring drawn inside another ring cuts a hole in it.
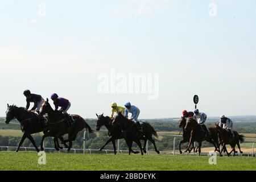
[{"label": "dark brown horse at the very back, rightmost in the race", "polygon": [[[222,129],[222,127],[218,126],[215,123],[216,129],[219,131],[221,137],[220,137],[220,144],[223,146],[221,153],[224,151],[226,151],[226,154],[228,154],[228,156],[230,156],[232,154],[232,152],[234,152],[234,156],[236,156],[236,145],[238,146],[238,149],[240,150],[240,153],[243,154],[243,152],[241,151],[241,147],[240,147],[240,142],[244,142],[244,136],[240,135],[237,133],[237,131],[233,131],[234,133],[234,137],[232,137],[232,134],[230,133],[230,131],[226,130],[226,129]],[[231,152],[228,152],[228,150],[226,149],[226,145],[229,144],[232,148]]]}]

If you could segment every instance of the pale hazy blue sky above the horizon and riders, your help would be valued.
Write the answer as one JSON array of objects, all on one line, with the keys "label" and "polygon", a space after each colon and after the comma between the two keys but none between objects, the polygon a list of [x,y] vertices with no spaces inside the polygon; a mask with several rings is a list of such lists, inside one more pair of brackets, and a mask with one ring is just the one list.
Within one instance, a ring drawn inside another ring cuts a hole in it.
[{"label": "pale hazy blue sky above the horizon and riders", "polygon": [[[0,115],[24,89],[71,101],[94,118],[131,104],[141,118],[256,115],[256,1],[0,1]],[[101,94],[110,70],[159,75],[159,98]],[[51,102],[52,104],[52,102]]]}]

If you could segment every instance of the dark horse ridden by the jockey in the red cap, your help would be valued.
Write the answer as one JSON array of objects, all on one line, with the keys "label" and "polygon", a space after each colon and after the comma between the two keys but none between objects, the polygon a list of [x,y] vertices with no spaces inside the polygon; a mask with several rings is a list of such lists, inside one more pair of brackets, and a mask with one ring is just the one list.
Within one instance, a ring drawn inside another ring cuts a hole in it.
[{"label": "dark horse ridden by the jockey in the red cap", "polygon": [[[182,154],[182,151],[181,151],[181,144],[187,143],[187,142],[189,143],[190,137],[191,137],[191,129],[187,128],[187,130],[185,130],[186,124],[187,124],[186,118],[181,117],[181,118],[180,118],[180,122],[179,122],[179,127],[182,128],[182,130],[183,130],[183,134],[182,134],[183,139],[182,139],[182,140],[180,141],[180,143],[179,143],[180,154]],[[188,147],[188,146],[187,146],[187,147]],[[194,142],[192,143],[192,148],[191,148],[191,150],[188,150],[188,152],[190,153],[192,150],[194,150],[194,152],[195,152]]]}]

